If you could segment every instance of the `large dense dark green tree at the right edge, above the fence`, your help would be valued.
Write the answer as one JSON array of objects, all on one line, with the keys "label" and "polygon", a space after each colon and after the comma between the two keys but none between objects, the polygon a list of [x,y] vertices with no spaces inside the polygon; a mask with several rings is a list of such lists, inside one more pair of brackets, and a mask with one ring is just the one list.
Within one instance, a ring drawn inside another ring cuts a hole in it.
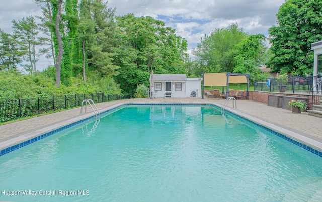
[{"label": "large dense dark green tree at the right edge, above the fence", "polygon": [[277,26],[269,29],[273,72],[312,73],[311,43],[322,38],[322,0],[286,0],[277,13]]}]

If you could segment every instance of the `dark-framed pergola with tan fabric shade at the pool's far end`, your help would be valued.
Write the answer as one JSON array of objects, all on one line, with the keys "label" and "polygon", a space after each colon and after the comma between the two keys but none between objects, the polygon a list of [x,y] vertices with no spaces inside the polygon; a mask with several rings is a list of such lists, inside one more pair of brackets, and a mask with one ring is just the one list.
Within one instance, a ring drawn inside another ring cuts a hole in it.
[{"label": "dark-framed pergola with tan fabric shade at the pool's far end", "polygon": [[228,99],[229,83],[247,83],[246,99],[248,99],[250,74],[239,73],[208,73],[203,74],[202,79],[202,98],[204,86],[226,86],[226,99]]}]

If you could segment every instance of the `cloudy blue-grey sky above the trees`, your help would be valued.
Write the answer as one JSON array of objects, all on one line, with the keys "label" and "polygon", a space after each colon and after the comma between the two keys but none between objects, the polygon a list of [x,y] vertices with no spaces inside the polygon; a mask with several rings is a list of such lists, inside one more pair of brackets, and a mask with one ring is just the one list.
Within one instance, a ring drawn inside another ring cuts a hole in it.
[{"label": "cloudy blue-grey sky above the trees", "polygon": [[[103,0],[104,1],[104,0]],[[41,15],[33,0],[0,0],[0,29],[11,33],[12,20]],[[162,20],[188,41],[188,53],[201,37],[237,22],[249,34],[268,35],[284,0],[109,0],[116,15],[133,13]]]}]

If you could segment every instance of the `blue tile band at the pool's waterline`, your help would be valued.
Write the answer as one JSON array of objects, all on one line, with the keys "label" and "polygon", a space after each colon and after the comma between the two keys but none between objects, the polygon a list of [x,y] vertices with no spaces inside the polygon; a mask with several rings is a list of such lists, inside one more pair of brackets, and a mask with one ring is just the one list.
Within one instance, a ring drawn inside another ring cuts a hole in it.
[{"label": "blue tile band at the pool's waterline", "polygon": [[[134,104],[134,103],[126,103],[126,104],[122,104],[122,105],[119,105],[119,106],[116,106],[116,107],[113,107],[113,108],[111,108],[111,109],[107,109],[107,110],[105,110],[105,111],[101,112],[101,116],[102,116],[102,115],[104,115],[104,114],[106,114],[106,113],[108,113],[108,112],[112,112],[112,111],[115,111],[115,110],[117,110],[117,109],[120,109],[120,108],[122,108],[122,107],[124,107],[124,106],[129,106],[129,105],[132,105],[132,106],[135,106],[135,105],[207,106],[207,105],[208,105],[208,106],[212,106],[212,107],[220,108],[219,106],[217,106],[217,105],[215,105],[215,104],[180,104],[180,103],[173,103],[173,104],[171,104],[171,103],[170,103],[170,104],[169,104],[169,103],[164,103],[164,104],[162,104],[162,103],[155,103],[155,104],[148,104],[148,103],[141,103],[141,104],[140,104],[140,103],[136,103],[136,104]],[[301,147],[301,148],[303,148],[303,149],[305,149],[305,150],[307,150],[307,151],[310,151],[310,152],[311,152],[311,153],[313,153],[313,154],[316,154],[316,155],[318,155],[318,156],[322,157],[322,152],[321,152],[321,151],[319,151],[319,150],[316,150],[316,149],[314,149],[314,148],[312,148],[312,147],[310,147],[310,146],[308,146],[308,145],[305,145],[304,143],[301,143],[301,142],[299,142],[299,141],[297,141],[297,140],[294,140],[294,139],[292,139],[292,138],[290,138],[290,137],[288,137],[288,136],[286,136],[286,135],[283,135],[283,134],[281,134],[281,133],[279,133],[279,132],[277,132],[277,131],[274,131],[274,130],[272,130],[272,129],[270,129],[270,128],[266,127],[266,126],[263,126],[263,125],[261,125],[261,124],[258,124],[258,123],[254,122],[254,121],[252,121],[252,120],[250,120],[250,119],[247,119],[247,118],[245,118],[245,117],[243,117],[243,116],[239,116],[239,115],[237,115],[237,114],[235,114],[235,113],[233,113],[233,112],[231,112],[231,111],[229,111],[229,110],[227,110],[227,112],[228,112],[228,113],[230,113],[230,114],[232,114],[232,115],[234,115],[234,116],[237,116],[238,118],[240,118],[240,119],[242,119],[242,120],[244,120],[244,121],[247,121],[248,123],[254,124],[255,126],[257,126],[257,127],[261,128],[261,129],[264,129],[264,130],[266,130],[266,131],[268,131],[268,132],[270,132],[270,133],[272,133],[272,134],[274,134],[274,135],[277,135],[278,137],[281,137],[281,138],[283,138],[283,139],[285,139],[285,140],[287,140],[287,141],[289,141],[289,142],[291,142],[291,143],[293,143],[293,144],[295,144],[295,145],[297,145],[297,146],[299,146],[299,147]],[[65,126],[63,126],[63,127],[60,127],[60,128],[58,128],[58,129],[55,129],[55,130],[53,130],[53,131],[50,131],[50,132],[47,132],[47,133],[45,133],[45,134],[39,135],[39,136],[34,137],[34,138],[32,138],[32,139],[29,139],[29,140],[26,140],[26,141],[24,141],[24,142],[21,142],[21,143],[15,144],[15,145],[13,145],[13,146],[10,146],[10,147],[8,147],[8,148],[2,149],[2,150],[0,151],[0,156],[3,156],[3,155],[5,155],[5,154],[8,154],[8,153],[10,153],[10,152],[12,152],[12,151],[15,151],[15,150],[17,150],[17,149],[19,149],[19,148],[22,148],[22,147],[24,147],[24,146],[27,146],[27,145],[29,145],[29,144],[31,144],[31,143],[34,143],[34,142],[38,141],[38,140],[42,140],[42,139],[44,139],[45,137],[51,136],[51,135],[53,135],[53,134],[55,134],[55,133],[58,133],[58,132],[63,131],[63,130],[65,130],[65,129],[67,129],[67,128],[70,128],[70,127],[72,127],[72,126],[75,126],[75,125],[81,124],[81,123],[83,123],[83,122],[86,122],[86,121],[88,121],[88,120],[90,120],[90,119],[94,119],[94,118],[95,118],[95,115],[90,116],[90,117],[87,117],[87,118],[85,118],[85,119],[82,119],[82,120],[76,121],[76,122],[74,122],[74,123],[71,123],[71,124],[65,125]]]}]

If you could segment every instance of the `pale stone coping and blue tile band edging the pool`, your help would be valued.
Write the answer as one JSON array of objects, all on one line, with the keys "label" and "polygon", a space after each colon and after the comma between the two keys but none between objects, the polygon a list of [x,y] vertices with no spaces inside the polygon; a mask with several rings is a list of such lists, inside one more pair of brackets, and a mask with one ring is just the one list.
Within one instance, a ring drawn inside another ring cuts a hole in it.
[{"label": "pale stone coping and blue tile band edging the pool", "polygon": [[[108,107],[105,107],[101,109],[101,114],[105,114],[109,111],[116,110],[118,108],[121,108],[123,106],[128,106],[128,105],[198,105],[198,106],[217,106],[219,108],[222,107],[220,104],[216,103],[117,103]],[[296,133],[294,131],[290,131],[288,129],[285,129],[283,127],[277,126],[275,124],[269,123],[267,121],[261,120],[259,118],[256,118],[254,116],[251,116],[249,114],[245,114],[243,112],[237,111],[236,109],[233,108],[226,108],[226,111],[229,113],[232,113],[236,116],[239,116],[240,118],[255,124],[259,126],[260,128],[263,128],[266,131],[269,131],[289,142],[294,143],[297,146],[300,146],[318,156],[322,157],[322,143],[318,142],[314,139],[311,139],[309,137],[306,137],[304,135],[301,135],[299,133]],[[70,128],[74,125],[77,125],[79,123],[83,123],[85,121],[91,120],[95,118],[95,113],[86,113],[82,114],[79,116],[76,116],[74,118],[71,118],[67,121],[63,121],[60,123],[52,124],[50,126],[29,132],[27,134],[0,142],[0,156],[3,156],[7,153],[10,153],[12,151],[15,151],[21,147],[24,147],[26,145],[29,145],[33,142],[36,142],[38,140],[41,140],[45,137],[48,137],[50,135],[53,135],[57,132],[60,132],[62,130],[65,130],[67,128]]]}]

